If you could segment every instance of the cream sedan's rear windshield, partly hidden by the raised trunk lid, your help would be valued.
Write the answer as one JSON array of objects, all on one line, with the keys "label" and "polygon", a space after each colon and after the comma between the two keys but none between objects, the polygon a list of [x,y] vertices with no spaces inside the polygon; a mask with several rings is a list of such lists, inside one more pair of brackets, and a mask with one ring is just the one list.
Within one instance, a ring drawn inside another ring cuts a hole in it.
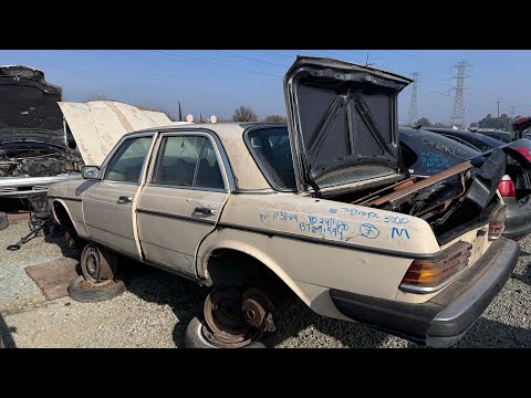
[{"label": "cream sedan's rear windshield, partly hidden by the raised trunk lid", "polygon": [[280,190],[296,189],[287,127],[260,128],[247,134],[251,154],[269,182]]}]

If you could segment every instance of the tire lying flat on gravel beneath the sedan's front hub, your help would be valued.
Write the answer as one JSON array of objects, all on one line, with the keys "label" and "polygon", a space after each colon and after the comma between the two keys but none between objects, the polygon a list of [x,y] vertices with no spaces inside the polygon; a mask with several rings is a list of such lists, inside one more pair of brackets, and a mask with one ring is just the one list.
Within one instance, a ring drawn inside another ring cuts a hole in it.
[{"label": "tire lying flat on gravel beneath the sedan's front hub", "polygon": [[123,281],[106,281],[94,284],[86,281],[83,275],[74,279],[69,285],[70,297],[83,303],[95,303],[111,300],[124,292],[125,284]]}]

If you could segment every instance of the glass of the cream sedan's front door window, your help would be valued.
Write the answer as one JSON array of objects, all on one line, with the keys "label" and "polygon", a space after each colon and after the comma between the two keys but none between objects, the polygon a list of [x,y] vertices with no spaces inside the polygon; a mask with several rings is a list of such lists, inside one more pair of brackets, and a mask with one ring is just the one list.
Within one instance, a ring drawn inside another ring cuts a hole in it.
[{"label": "glass of the cream sedan's front door window", "polygon": [[122,143],[105,170],[105,180],[138,182],[153,137],[129,138]]}]

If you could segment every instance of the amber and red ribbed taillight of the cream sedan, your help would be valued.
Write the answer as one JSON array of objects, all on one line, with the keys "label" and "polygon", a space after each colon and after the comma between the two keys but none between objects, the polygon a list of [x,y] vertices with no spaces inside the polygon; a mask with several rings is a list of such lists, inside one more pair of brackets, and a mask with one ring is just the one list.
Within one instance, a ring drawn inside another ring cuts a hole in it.
[{"label": "amber and red ribbed taillight of the cream sedan", "polygon": [[459,241],[430,260],[415,260],[402,279],[400,290],[413,293],[431,293],[450,283],[459,271],[468,266],[472,245]]}]

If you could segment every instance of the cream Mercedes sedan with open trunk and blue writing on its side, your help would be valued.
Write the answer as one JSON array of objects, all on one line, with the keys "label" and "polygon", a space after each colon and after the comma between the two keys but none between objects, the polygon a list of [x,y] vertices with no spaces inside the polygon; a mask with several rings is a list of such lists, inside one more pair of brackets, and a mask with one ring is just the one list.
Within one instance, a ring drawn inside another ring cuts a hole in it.
[{"label": "cream Mercedes sedan with open trunk and blue writing on its side", "polygon": [[500,237],[506,155],[412,177],[396,119],[409,82],[299,57],[284,77],[288,125],[128,134],[101,167],[85,167],[84,181],[50,188],[54,217],[81,239],[201,285],[262,286],[252,276],[262,270],[317,314],[451,345],[518,259],[518,243]]}]

